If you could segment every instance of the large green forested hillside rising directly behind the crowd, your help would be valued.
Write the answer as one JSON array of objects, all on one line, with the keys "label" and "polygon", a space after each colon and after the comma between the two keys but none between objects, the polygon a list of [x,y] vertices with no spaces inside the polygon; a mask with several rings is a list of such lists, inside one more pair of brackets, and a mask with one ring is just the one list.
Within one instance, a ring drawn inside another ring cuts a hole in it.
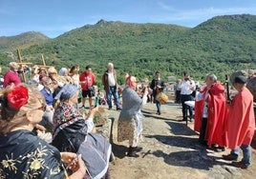
[{"label": "large green forested hillside rising directly behind the crowd", "polygon": [[208,72],[224,78],[234,70],[256,69],[256,16],[217,16],[193,29],[100,20],[22,50],[24,60],[34,64],[41,63],[42,53],[47,65],[91,65],[98,77],[113,62],[120,75],[131,72],[139,79],[152,78],[156,70],[163,77],[189,70],[197,79]]}]

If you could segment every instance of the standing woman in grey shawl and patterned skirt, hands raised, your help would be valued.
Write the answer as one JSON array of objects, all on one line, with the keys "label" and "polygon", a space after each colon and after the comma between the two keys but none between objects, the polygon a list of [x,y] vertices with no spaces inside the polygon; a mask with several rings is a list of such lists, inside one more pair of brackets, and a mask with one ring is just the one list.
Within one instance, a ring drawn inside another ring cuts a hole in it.
[{"label": "standing woman in grey shawl and patterned skirt, hands raised", "polygon": [[147,101],[148,90],[145,89],[142,99],[136,92],[136,77],[129,75],[126,79],[127,87],[122,91],[122,110],[119,114],[117,141],[129,140],[127,156],[138,157],[137,152],[142,148],[138,147],[139,134],[142,131],[142,114],[140,106]]}]

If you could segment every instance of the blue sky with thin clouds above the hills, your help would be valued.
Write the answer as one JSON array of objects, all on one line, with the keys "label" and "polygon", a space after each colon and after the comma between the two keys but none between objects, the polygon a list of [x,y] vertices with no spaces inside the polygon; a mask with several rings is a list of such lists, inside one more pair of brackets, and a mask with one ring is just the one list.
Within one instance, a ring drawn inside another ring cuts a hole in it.
[{"label": "blue sky with thin clouds above the hills", "polygon": [[100,19],[194,28],[219,15],[256,15],[256,0],[0,0],[0,36],[55,38]]}]

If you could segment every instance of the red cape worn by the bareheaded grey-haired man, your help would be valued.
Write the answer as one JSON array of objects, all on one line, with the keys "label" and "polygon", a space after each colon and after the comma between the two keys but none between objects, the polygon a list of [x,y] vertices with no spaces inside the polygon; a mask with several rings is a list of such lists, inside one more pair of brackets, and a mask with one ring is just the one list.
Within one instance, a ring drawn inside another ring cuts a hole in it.
[{"label": "red cape worn by the bareheaded grey-haired man", "polygon": [[[211,146],[212,144],[225,146],[226,137],[224,129],[227,109],[225,106],[224,87],[220,83],[216,83],[208,92],[208,119],[205,140],[207,140],[208,146]],[[194,129],[199,132],[202,126],[203,103],[204,100],[195,103]]]}]

